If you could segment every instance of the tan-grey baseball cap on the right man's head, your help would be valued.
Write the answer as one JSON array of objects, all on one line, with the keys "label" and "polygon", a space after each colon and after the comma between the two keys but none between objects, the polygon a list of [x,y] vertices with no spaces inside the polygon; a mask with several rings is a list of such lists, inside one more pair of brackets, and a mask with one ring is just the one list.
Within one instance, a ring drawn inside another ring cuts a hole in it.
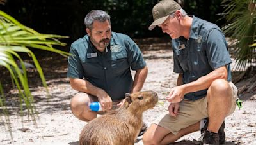
[{"label": "tan-grey baseball cap on the right man's head", "polygon": [[152,10],[154,22],[148,27],[148,30],[154,29],[156,25],[162,24],[170,14],[180,10],[181,6],[173,0],[162,0],[157,3]]}]

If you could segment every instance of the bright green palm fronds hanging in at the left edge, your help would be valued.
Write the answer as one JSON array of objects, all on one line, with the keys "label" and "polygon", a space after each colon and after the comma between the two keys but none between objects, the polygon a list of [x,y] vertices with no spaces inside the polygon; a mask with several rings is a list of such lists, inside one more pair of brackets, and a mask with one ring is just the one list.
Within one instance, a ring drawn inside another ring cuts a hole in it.
[{"label": "bright green palm fronds hanging in at the left edge", "polygon": [[[28,53],[33,60],[38,74],[42,80],[43,86],[47,90],[47,85],[44,78],[44,73],[35,54],[31,49],[36,48],[40,50],[59,53],[65,57],[68,56],[67,52],[55,49],[52,45],[65,46],[65,43],[61,43],[57,38],[67,38],[67,36],[59,36],[53,34],[40,34],[35,30],[20,24],[15,18],[0,11],[0,67],[6,68],[10,72],[13,85],[19,92],[20,110],[26,106],[28,116],[35,114],[35,107],[33,107],[33,96],[29,90],[28,78],[26,74],[26,68],[24,61],[20,57],[20,53]],[[16,61],[15,61],[16,60]],[[17,60],[20,62],[20,67],[17,64]],[[8,116],[8,110],[6,109],[4,96],[4,88],[1,85],[0,80],[0,109],[6,116]],[[8,118],[6,118],[8,121]]]}]

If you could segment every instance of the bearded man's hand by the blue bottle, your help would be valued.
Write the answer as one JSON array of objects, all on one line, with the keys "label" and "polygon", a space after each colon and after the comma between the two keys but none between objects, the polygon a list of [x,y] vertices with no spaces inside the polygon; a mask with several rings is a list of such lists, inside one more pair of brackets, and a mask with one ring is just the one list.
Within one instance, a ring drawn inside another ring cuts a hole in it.
[{"label": "bearded man's hand by the blue bottle", "polygon": [[98,100],[102,107],[102,111],[107,111],[112,108],[112,99],[104,90],[98,92]]}]

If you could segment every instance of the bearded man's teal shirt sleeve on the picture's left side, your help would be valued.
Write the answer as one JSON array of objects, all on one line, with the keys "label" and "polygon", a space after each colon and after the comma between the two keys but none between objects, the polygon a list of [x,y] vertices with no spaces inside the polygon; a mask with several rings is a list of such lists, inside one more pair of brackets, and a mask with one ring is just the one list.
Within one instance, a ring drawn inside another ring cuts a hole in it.
[{"label": "bearded man's teal shirt sleeve on the picture's left side", "polygon": [[72,46],[70,47],[71,55],[68,56],[68,78],[83,78],[83,67],[79,59],[78,52]]}]

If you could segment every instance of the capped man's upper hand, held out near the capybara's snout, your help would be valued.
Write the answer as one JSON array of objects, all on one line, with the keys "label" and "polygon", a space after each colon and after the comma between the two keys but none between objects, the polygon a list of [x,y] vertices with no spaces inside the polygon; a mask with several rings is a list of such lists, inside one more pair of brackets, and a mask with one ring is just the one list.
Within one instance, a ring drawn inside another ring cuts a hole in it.
[{"label": "capped man's upper hand, held out near the capybara's snout", "polygon": [[177,103],[182,101],[183,97],[184,97],[184,87],[181,86],[176,86],[174,88],[171,89],[169,95],[166,97],[166,100],[168,100],[171,103]]}]

